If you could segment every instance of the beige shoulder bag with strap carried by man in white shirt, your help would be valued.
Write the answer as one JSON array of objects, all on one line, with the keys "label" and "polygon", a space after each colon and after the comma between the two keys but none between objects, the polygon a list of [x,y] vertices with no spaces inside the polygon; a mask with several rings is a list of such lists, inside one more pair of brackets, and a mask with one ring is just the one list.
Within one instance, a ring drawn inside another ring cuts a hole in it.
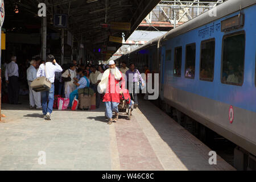
[{"label": "beige shoulder bag with strap carried by man in white shirt", "polygon": [[44,64],[44,72],[46,76],[38,77],[30,84],[32,90],[35,92],[49,91],[51,89],[52,83],[47,79],[46,64]]}]

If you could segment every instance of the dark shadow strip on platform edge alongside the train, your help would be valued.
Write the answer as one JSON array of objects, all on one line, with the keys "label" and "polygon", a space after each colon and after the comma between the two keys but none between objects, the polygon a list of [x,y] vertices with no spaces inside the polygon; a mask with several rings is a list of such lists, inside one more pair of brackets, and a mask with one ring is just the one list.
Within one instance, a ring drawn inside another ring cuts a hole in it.
[{"label": "dark shadow strip on platform edge alongside the train", "polygon": [[141,110],[144,117],[147,118],[159,137],[168,144],[170,149],[175,153],[176,158],[188,170],[233,170],[232,166],[229,166],[228,163],[219,157],[217,157],[217,161],[220,166],[210,165],[208,163],[210,157],[208,156],[208,152],[210,148],[204,146],[199,139],[193,137],[192,134],[188,133],[178,123],[171,121],[172,118],[163,113],[152,102],[139,98],[139,103],[139,110]]}]

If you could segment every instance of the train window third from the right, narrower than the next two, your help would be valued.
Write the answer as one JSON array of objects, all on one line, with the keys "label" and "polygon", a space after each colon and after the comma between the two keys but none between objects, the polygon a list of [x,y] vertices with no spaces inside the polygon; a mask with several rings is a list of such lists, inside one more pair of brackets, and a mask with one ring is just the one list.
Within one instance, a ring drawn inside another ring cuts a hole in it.
[{"label": "train window third from the right, narrower than the next two", "polygon": [[196,44],[186,46],[185,77],[195,78]]}]

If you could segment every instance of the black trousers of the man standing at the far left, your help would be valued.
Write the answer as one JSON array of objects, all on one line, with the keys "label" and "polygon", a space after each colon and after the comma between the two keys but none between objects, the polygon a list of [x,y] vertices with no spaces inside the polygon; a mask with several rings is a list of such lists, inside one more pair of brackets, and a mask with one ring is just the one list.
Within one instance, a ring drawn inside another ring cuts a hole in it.
[{"label": "black trousers of the man standing at the far left", "polygon": [[8,78],[8,97],[10,104],[18,104],[19,102],[19,77],[11,76]]}]

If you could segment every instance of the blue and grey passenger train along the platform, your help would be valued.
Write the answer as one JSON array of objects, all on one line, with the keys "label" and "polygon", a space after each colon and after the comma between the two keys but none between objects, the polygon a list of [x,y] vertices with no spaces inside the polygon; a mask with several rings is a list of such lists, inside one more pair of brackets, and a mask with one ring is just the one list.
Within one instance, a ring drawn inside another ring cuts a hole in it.
[{"label": "blue and grey passenger train along the platform", "polygon": [[117,61],[147,64],[159,73],[162,104],[229,139],[255,162],[256,1],[229,0],[211,11]]}]

